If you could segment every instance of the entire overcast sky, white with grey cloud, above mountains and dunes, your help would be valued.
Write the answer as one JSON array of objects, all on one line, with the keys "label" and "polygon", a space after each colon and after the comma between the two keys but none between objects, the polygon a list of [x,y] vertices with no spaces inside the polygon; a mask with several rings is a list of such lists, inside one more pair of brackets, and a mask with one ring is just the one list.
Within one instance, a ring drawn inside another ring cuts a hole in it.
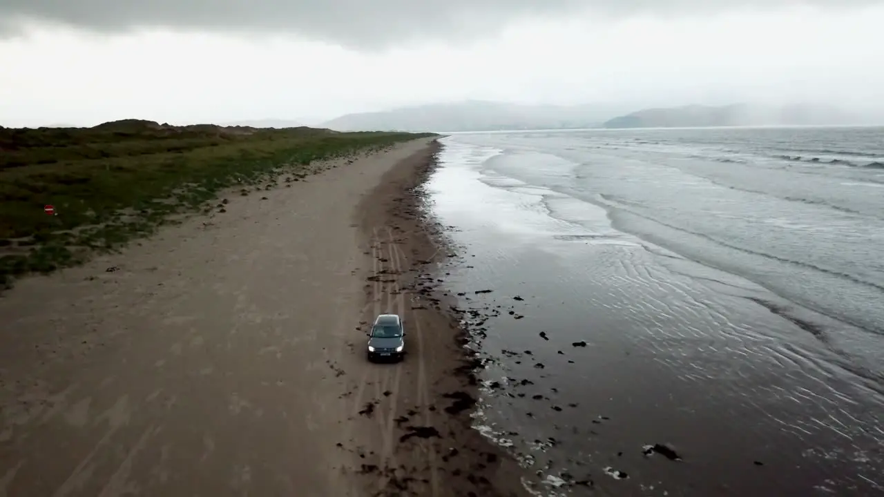
[{"label": "entire overcast sky, white with grey cloud, above mountains and dunes", "polygon": [[2,0],[0,125],[465,98],[884,107],[882,0]]}]

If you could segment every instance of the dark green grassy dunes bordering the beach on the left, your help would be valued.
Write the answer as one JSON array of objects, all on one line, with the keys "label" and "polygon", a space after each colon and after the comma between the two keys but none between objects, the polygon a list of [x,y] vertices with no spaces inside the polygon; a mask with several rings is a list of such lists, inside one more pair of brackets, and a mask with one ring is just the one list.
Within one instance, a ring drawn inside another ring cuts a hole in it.
[{"label": "dark green grassy dunes bordering the beach on the left", "polygon": [[[286,181],[302,179],[313,161],[422,136],[431,134],[137,119],[92,128],[0,126],[0,285],[116,250],[174,214],[223,211],[212,202],[223,188],[241,186],[247,195],[286,172]],[[57,215],[44,213],[45,205]]]}]

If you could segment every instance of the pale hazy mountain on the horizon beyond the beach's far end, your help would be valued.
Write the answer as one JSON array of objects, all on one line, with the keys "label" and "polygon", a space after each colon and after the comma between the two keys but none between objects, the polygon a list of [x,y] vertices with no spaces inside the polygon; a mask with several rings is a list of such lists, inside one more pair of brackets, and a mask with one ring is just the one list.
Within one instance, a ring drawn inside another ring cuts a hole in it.
[{"label": "pale hazy mountain on the horizon beyond the beach's far end", "polygon": [[496,131],[600,126],[617,112],[610,105],[522,105],[468,100],[347,114],[318,125],[336,131]]}]

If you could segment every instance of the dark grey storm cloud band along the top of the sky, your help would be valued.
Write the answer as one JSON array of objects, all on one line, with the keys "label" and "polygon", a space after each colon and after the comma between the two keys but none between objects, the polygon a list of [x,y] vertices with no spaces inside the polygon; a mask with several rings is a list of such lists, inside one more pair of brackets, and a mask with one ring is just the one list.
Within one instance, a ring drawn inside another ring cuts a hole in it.
[{"label": "dark grey storm cloud band along the top of the sky", "polygon": [[796,4],[846,10],[880,0],[0,0],[0,36],[42,20],[103,33],[145,27],[292,33],[369,50],[415,40],[463,40],[532,16],[670,16]]}]

